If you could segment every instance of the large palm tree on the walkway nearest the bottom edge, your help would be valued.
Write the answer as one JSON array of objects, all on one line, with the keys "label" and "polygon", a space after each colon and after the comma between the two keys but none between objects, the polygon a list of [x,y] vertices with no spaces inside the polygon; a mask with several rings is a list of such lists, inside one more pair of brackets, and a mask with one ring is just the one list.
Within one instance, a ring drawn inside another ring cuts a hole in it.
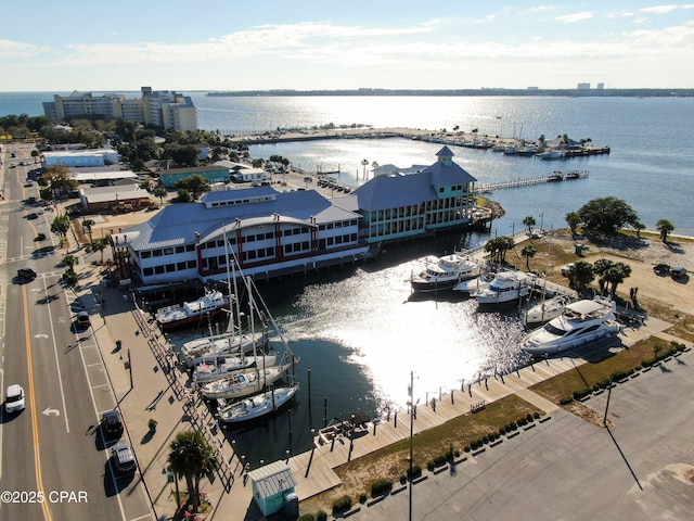
[{"label": "large palm tree on the walkway nearest the bottom edge", "polygon": [[[176,480],[185,479],[193,512],[200,508],[200,482],[217,470],[219,462],[213,447],[198,431],[179,432],[169,445],[167,462]],[[177,485],[178,486],[178,485]]]}]

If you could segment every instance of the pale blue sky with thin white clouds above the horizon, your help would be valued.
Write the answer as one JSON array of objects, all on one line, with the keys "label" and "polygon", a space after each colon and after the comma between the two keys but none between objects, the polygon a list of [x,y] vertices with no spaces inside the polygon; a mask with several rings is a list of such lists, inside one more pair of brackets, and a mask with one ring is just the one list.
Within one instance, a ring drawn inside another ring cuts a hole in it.
[{"label": "pale blue sky with thin white clouds above the horizon", "polygon": [[23,0],[0,91],[694,87],[694,3]]}]

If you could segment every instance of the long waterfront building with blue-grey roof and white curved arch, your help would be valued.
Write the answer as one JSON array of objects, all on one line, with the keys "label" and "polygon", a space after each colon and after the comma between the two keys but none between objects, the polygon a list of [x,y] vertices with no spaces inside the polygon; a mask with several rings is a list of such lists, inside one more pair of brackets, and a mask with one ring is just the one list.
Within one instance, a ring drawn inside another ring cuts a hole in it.
[{"label": "long waterfront building with blue-grey roof and white curved arch", "polygon": [[359,219],[314,190],[265,186],[166,206],[111,240],[137,283],[206,282],[228,277],[232,251],[244,275],[260,277],[354,262],[369,250],[358,237]]}]

